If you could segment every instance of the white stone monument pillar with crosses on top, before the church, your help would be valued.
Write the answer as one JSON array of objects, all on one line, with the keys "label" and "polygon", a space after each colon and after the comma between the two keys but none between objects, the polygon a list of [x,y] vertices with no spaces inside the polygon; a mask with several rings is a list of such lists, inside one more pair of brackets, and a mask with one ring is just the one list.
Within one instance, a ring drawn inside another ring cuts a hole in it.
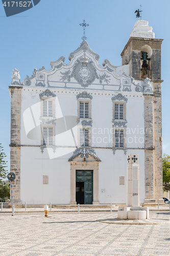
[{"label": "white stone monument pillar with crosses on top, before the church", "polygon": [[140,169],[138,154],[128,155],[126,205],[140,206]]}]

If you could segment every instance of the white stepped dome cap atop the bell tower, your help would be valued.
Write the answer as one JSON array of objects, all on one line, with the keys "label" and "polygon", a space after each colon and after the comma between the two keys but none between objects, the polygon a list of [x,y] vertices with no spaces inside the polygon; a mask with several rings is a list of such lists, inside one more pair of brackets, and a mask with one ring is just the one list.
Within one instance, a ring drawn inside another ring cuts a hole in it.
[{"label": "white stepped dome cap atop the bell tower", "polygon": [[148,25],[147,20],[137,20],[130,37],[144,37],[144,38],[155,38],[155,33],[152,32],[152,27]]}]

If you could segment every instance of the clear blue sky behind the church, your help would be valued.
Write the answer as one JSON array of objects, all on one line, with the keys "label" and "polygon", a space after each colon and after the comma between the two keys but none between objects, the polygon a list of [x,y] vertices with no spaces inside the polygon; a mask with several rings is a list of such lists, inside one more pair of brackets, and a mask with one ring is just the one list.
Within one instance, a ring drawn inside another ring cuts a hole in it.
[{"label": "clear blue sky behind the church", "polygon": [[[112,65],[122,65],[120,53],[129,40],[137,20],[134,11],[142,5],[142,19],[148,20],[156,38],[162,38],[162,136],[163,153],[170,155],[169,138],[169,9],[170,2],[158,0],[41,0],[34,8],[6,17],[0,2],[1,41],[1,126],[0,143],[7,160],[10,159],[10,95],[8,86],[11,71],[19,70],[23,80],[32,75],[34,68],[50,70],[50,61],[76,50],[82,41],[86,20],[87,42],[100,55],[99,63],[109,59]],[[10,170],[8,166],[8,170]]]}]

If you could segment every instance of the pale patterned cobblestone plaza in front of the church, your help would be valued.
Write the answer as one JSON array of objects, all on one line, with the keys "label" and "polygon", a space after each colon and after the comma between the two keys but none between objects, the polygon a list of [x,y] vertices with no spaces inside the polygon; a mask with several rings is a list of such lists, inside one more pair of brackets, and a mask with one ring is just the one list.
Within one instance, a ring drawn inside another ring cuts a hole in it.
[{"label": "pale patterned cobblestone plaza in front of the church", "polygon": [[[1,212],[0,255],[170,255],[169,223],[108,224],[117,212]],[[170,220],[167,211],[150,218]]]}]

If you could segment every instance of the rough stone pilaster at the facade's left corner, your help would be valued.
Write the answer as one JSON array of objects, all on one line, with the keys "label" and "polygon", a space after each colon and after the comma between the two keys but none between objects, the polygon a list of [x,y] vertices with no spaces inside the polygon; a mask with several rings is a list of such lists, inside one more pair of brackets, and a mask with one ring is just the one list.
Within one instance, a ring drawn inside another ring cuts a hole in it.
[{"label": "rough stone pilaster at the facade's left corner", "polygon": [[10,172],[15,173],[13,181],[13,204],[21,205],[20,200],[20,130],[21,130],[21,86],[10,86],[11,95],[11,141]]}]

